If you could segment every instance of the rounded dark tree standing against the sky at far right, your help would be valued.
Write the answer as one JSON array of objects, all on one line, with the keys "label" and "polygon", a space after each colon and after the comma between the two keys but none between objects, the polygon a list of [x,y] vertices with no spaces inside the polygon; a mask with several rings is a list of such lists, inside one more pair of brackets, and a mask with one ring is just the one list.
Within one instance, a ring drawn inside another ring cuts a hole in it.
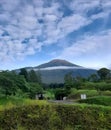
[{"label": "rounded dark tree standing against the sky at far right", "polygon": [[97,73],[101,80],[106,80],[110,76],[110,70],[107,68],[101,68]]}]

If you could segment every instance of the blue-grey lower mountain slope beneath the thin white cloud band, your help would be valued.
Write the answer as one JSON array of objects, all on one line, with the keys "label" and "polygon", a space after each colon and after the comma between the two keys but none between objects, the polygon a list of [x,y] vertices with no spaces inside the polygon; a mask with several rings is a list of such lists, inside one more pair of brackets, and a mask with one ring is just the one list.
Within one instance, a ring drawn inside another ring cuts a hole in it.
[{"label": "blue-grey lower mountain slope beneath the thin white cloud band", "polygon": [[40,70],[43,83],[64,83],[64,76],[72,73],[73,77],[89,77],[91,74],[96,73],[93,69],[54,69],[54,70]]}]

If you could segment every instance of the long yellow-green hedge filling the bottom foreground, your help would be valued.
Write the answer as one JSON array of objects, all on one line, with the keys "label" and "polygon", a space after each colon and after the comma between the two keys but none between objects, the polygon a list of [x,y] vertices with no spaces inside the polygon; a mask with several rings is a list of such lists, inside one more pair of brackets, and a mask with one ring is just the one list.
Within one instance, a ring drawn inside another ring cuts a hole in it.
[{"label": "long yellow-green hedge filling the bottom foreground", "polygon": [[111,107],[42,104],[0,110],[0,130],[110,130]]}]

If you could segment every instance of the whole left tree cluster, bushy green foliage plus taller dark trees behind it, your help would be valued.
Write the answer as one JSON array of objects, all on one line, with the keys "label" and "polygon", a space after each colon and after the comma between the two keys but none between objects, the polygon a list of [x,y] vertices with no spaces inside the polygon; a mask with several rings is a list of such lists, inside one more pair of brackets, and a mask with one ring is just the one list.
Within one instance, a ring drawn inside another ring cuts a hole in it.
[{"label": "whole left tree cluster, bushy green foliage plus taller dark trees behind it", "polygon": [[25,68],[16,71],[0,72],[0,96],[27,96],[35,98],[38,93],[43,93],[41,76],[34,70]]}]

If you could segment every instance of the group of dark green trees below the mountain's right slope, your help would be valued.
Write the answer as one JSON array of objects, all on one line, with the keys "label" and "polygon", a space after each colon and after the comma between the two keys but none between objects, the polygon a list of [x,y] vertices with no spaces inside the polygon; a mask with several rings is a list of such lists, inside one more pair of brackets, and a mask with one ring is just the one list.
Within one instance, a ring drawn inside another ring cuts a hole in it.
[{"label": "group of dark green trees below the mountain's right slope", "polygon": [[97,73],[90,75],[88,78],[81,76],[74,77],[68,73],[64,77],[64,87],[57,88],[55,98],[62,99],[71,93],[71,89],[95,89],[98,91],[111,90],[111,71],[107,68],[101,68]]}]

